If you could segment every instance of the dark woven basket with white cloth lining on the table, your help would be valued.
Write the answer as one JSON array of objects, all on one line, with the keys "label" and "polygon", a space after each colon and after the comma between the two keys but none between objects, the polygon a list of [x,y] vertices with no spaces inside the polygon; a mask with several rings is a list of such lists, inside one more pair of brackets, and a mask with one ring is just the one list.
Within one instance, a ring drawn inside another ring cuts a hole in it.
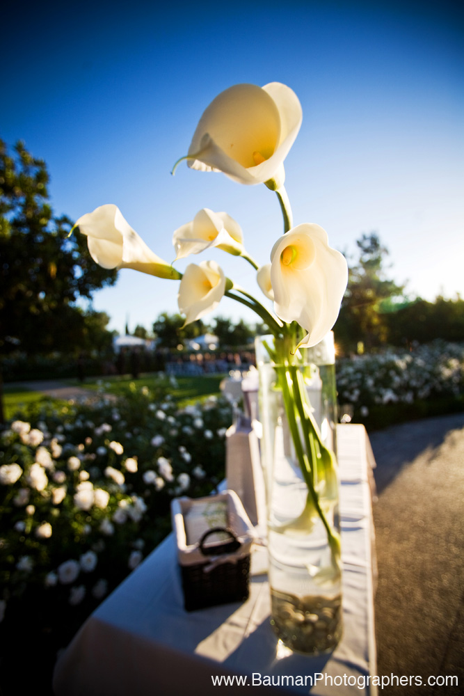
[{"label": "dark woven basket with white cloth lining on the table", "polygon": [[[185,516],[198,503],[225,503],[226,524],[207,528],[189,539]],[[171,505],[177,559],[187,611],[248,598],[250,546],[255,537],[237,493],[224,491],[208,498],[175,498]]]}]

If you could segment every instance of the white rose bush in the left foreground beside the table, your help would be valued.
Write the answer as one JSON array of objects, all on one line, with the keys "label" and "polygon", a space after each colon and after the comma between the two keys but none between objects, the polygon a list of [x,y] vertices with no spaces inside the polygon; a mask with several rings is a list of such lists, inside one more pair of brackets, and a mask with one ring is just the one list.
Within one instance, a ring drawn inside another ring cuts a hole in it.
[{"label": "white rose bush in the left foreground beside the table", "polygon": [[[160,373],[154,390],[132,385],[118,400],[31,406],[0,430],[0,634],[10,644],[27,634],[54,656],[168,534],[178,491],[204,496],[221,482],[230,403],[179,409],[170,386]],[[40,437],[25,441],[29,432]]]}]

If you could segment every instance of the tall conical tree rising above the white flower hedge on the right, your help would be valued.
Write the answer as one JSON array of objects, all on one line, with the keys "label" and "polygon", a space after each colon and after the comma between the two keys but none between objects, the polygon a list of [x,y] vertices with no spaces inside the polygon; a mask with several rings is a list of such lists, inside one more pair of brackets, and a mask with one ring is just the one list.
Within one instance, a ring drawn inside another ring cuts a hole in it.
[{"label": "tall conical tree rising above the white flower hedge on the right", "polygon": [[382,304],[403,294],[404,286],[385,278],[387,248],[376,232],[363,234],[356,242],[358,262],[349,267],[348,287],[335,324],[335,339],[344,352],[385,344],[388,327]]}]

